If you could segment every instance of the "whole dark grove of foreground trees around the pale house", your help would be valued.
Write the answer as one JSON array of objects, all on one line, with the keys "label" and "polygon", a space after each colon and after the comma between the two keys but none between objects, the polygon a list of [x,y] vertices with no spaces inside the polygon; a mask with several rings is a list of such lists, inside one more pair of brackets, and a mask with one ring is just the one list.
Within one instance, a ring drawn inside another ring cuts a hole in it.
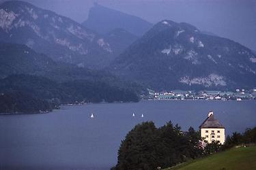
[{"label": "whole dark grove of foreground trees around the pale house", "polygon": [[201,140],[200,133],[192,127],[182,132],[180,126],[173,126],[171,122],[160,128],[156,128],[154,122],[143,122],[137,124],[122,141],[117,165],[112,169],[164,169],[233,146],[256,143],[256,127],[246,129],[242,134],[233,133],[224,145],[213,142],[203,148]]}]

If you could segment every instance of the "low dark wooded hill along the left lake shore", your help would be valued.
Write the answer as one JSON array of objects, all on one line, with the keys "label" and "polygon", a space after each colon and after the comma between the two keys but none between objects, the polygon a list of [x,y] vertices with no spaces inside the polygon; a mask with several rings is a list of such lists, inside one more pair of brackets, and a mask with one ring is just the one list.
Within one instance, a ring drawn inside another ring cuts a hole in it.
[{"label": "low dark wooded hill along the left lake shore", "polygon": [[0,113],[51,111],[60,104],[139,101],[132,88],[106,82],[55,82],[35,75],[10,75],[0,81]]}]

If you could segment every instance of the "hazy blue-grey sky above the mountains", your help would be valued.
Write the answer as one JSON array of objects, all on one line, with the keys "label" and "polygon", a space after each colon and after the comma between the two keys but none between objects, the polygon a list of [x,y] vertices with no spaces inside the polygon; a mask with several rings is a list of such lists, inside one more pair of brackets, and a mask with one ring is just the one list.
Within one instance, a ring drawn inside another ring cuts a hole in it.
[{"label": "hazy blue-grey sky above the mountains", "polygon": [[[0,0],[1,1],[1,0]],[[188,22],[256,50],[256,0],[26,0],[78,22],[94,2],[156,23]]]}]

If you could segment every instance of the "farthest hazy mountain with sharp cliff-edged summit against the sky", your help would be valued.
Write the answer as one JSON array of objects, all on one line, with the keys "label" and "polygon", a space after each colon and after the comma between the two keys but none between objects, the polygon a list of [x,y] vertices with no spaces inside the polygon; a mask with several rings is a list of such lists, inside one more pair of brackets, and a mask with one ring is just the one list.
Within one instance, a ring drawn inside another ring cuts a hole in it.
[{"label": "farthest hazy mountain with sharp cliff-edged summit against the sky", "polygon": [[109,33],[113,29],[121,28],[137,36],[143,35],[143,33],[152,27],[150,22],[98,5],[98,3],[94,3],[94,7],[91,7],[89,10],[87,20],[82,24],[102,34]]}]

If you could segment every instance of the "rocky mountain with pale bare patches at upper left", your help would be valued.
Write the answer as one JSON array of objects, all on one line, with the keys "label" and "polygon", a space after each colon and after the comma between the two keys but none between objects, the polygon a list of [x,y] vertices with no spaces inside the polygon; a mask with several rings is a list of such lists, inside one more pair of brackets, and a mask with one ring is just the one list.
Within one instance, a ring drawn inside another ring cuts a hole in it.
[{"label": "rocky mountain with pale bare patches at upper left", "polygon": [[26,44],[55,61],[102,68],[113,49],[98,33],[83,25],[23,1],[0,5],[0,41]]}]

